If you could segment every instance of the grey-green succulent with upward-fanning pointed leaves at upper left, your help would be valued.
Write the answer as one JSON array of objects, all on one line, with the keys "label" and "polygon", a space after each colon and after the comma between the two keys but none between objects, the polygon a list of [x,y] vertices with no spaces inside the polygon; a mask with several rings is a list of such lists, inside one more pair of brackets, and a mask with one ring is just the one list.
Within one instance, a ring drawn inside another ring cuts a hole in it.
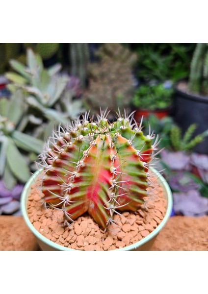
[{"label": "grey-green succulent with upward-fanning pointed leaves at upper left", "polygon": [[66,115],[52,108],[69,81],[67,75],[58,75],[61,65],[56,64],[45,69],[40,55],[31,49],[27,49],[26,66],[16,60],[10,60],[10,65],[17,73],[5,74],[12,82],[8,85],[9,90],[15,92],[17,89],[23,89],[30,107],[41,112],[48,120],[67,123]]}]

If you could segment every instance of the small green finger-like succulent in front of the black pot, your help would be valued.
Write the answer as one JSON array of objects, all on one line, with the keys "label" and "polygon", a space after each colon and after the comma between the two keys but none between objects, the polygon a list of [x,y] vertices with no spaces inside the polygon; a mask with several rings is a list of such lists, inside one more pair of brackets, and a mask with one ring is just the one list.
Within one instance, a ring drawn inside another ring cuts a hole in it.
[{"label": "small green finger-like succulent in front of the black pot", "polygon": [[173,126],[170,131],[170,140],[172,148],[175,151],[190,151],[196,145],[203,142],[205,137],[208,136],[208,133],[204,132],[193,138],[193,133],[196,130],[196,128],[197,125],[195,123],[191,124],[182,136],[182,131],[180,127]]}]

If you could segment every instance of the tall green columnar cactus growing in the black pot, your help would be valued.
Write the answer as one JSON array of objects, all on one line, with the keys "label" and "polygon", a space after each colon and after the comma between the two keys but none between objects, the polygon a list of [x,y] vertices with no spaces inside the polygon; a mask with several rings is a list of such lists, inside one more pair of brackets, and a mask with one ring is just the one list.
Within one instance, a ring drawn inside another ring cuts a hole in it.
[{"label": "tall green columnar cactus growing in the black pot", "polygon": [[208,44],[196,45],[191,61],[189,90],[208,95]]}]

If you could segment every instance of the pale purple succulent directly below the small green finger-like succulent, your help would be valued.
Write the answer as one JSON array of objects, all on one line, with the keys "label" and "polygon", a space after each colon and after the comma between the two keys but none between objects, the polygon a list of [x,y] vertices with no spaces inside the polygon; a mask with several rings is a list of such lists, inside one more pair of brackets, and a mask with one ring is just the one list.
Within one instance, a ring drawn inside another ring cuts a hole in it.
[{"label": "pale purple succulent directly below the small green finger-like succulent", "polygon": [[190,170],[190,157],[182,151],[178,152],[161,152],[162,161],[174,171],[189,171]]}]

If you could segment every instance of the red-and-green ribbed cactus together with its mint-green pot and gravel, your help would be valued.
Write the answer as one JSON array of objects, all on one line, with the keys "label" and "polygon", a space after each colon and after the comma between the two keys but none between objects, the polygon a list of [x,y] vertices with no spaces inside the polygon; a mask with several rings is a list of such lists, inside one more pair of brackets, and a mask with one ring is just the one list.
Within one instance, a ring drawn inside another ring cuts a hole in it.
[{"label": "red-and-green ribbed cactus together with its mint-green pot and gravel", "polygon": [[131,115],[106,117],[60,127],[40,155],[21,203],[42,249],[148,250],[169,218],[170,188],[152,169],[158,136]]}]

